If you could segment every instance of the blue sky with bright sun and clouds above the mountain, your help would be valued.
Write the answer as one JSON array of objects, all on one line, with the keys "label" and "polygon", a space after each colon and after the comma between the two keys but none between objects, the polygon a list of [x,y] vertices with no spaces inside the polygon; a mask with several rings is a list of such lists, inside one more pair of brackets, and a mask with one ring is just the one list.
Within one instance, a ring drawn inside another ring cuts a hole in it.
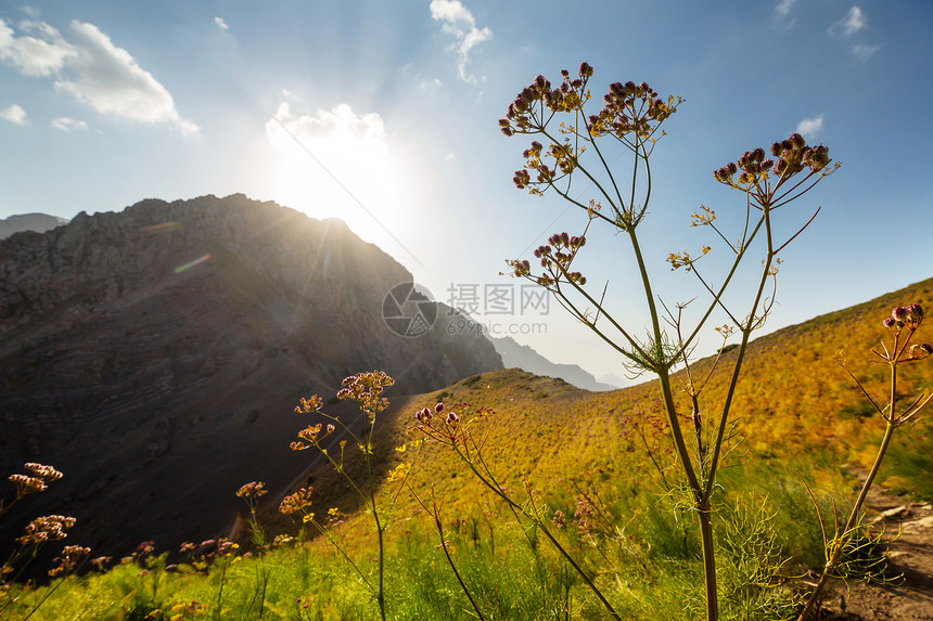
[{"label": "blue sky with bright sun and clouds above the mountain", "polygon": [[[506,259],[587,224],[560,197],[513,185],[532,140],[499,131],[515,94],[586,61],[592,112],[614,81],[683,98],[652,155],[638,231],[657,298],[694,300],[688,327],[708,297],[665,259],[708,245],[716,281],[730,250],[690,214],[706,205],[731,230],[744,212],[713,171],[794,131],[829,146],[840,170],[780,215],[787,238],[821,208],[781,253],[765,334],[933,276],[931,27],[921,0],[0,0],[0,218],[205,194],[276,200],[342,218],[472,313],[447,329],[625,377],[586,326],[500,275]],[[584,200],[592,191],[574,186]],[[627,237],[597,224],[587,236],[588,290],[643,334]],[[757,264],[729,294],[738,315]],[[696,354],[719,345],[719,319]]]}]

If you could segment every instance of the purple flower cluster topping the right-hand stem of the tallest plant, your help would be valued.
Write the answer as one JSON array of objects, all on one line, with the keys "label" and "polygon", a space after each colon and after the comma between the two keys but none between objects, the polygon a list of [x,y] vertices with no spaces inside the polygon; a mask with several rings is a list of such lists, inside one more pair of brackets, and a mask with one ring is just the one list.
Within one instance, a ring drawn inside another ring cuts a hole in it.
[{"label": "purple flower cluster topping the right-hand stem of the tallest plant", "polygon": [[800,133],[792,133],[790,138],[772,144],[771,155],[776,159],[767,157],[761,146],[746,151],[738,163],[730,161],[715,170],[713,176],[719,183],[745,190],[768,179],[769,172],[783,180],[804,169],[809,169],[811,173],[819,172],[830,163],[828,147],[807,146],[806,140]]}]

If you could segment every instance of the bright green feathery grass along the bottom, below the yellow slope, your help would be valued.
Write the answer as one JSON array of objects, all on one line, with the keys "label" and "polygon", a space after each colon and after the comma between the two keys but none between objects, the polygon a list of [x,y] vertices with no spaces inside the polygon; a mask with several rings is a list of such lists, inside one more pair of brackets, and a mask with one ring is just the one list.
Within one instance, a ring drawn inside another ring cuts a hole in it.
[{"label": "bright green feathery grass along the bottom, below the yellow slope", "polygon": [[[716,529],[724,542],[718,568],[724,619],[789,616],[795,606],[785,580],[791,568],[813,567],[821,555],[818,527],[817,534],[813,532],[815,514],[797,468],[793,464],[771,464],[769,468],[755,464],[727,470],[726,490],[717,495]],[[845,487],[833,468],[811,467],[804,476],[811,480],[823,508],[836,497],[834,490]],[[752,491],[738,494],[730,491],[733,488]],[[573,516],[581,493],[591,499],[597,517],[580,529]],[[619,484],[609,477],[595,488],[566,482],[544,500],[549,512],[564,513],[566,527],[555,527],[554,532],[623,618],[677,621],[701,613],[702,562],[695,519],[682,508],[689,505],[677,502],[676,492],[664,492],[650,478],[636,486]],[[445,525],[453,562],[485,618],[605,618],[599,601],[545,538],[500,509],[497,517],[489,517],[476,505]],[[388,618],[475,619],[437,547],[439,538],[427,516],[396,518],[387,533]],[[355,525],[341,528],[346,529],[347,552],[373,579],[374,545],[367,538],[353,536]],[[784,565],[784,559],[790,562]],[[25,619],[47,595],[30,619],[331,621],[379,617],[361,579],[320,538],[263,554],[231,553],[216,559],[206,572],[186,564],[163,571],[157,560],[143,565],[118,565],[105,573],[71,577],[61,584],[18,593],[14,587],[7,597],[17,594],[18,599],[0,619]]]}]

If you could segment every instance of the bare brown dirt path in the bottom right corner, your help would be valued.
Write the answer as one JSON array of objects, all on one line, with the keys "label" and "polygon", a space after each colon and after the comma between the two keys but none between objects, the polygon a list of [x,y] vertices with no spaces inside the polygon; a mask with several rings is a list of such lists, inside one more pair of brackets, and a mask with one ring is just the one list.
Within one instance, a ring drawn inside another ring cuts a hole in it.
[{"label": "bare brown dirt path in the bottom right corner", "polygon": [[[868,519],[900,538],[891,543],[889,575],[903,574],[891,586],[836,584],[823,605],[827,621],[933,621],[933,506],[910,503],[872,490],[866,500]],[[843,599],[844,598],[844,599]]]}]

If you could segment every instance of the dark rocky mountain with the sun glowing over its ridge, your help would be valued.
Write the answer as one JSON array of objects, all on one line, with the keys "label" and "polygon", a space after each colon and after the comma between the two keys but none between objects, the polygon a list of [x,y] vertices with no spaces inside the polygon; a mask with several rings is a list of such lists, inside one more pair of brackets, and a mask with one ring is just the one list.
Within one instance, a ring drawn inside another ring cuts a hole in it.
[{"label": "dark rocky mountain with the sun glowing over its ridge", "polygon": [[410,281],[342,221],[242,195],[0,242],[0,466],[65,473],[0,541],[43,513],[77,517],[69,540],[100,554],[214,536],[241,484],[274,493],[306,465],[289,451],[299,397],[359,371],[395,377],[391,398],[501,367],[485,339],[445,333],[446,309],[421,336],[389,329],[385,296]]}]

